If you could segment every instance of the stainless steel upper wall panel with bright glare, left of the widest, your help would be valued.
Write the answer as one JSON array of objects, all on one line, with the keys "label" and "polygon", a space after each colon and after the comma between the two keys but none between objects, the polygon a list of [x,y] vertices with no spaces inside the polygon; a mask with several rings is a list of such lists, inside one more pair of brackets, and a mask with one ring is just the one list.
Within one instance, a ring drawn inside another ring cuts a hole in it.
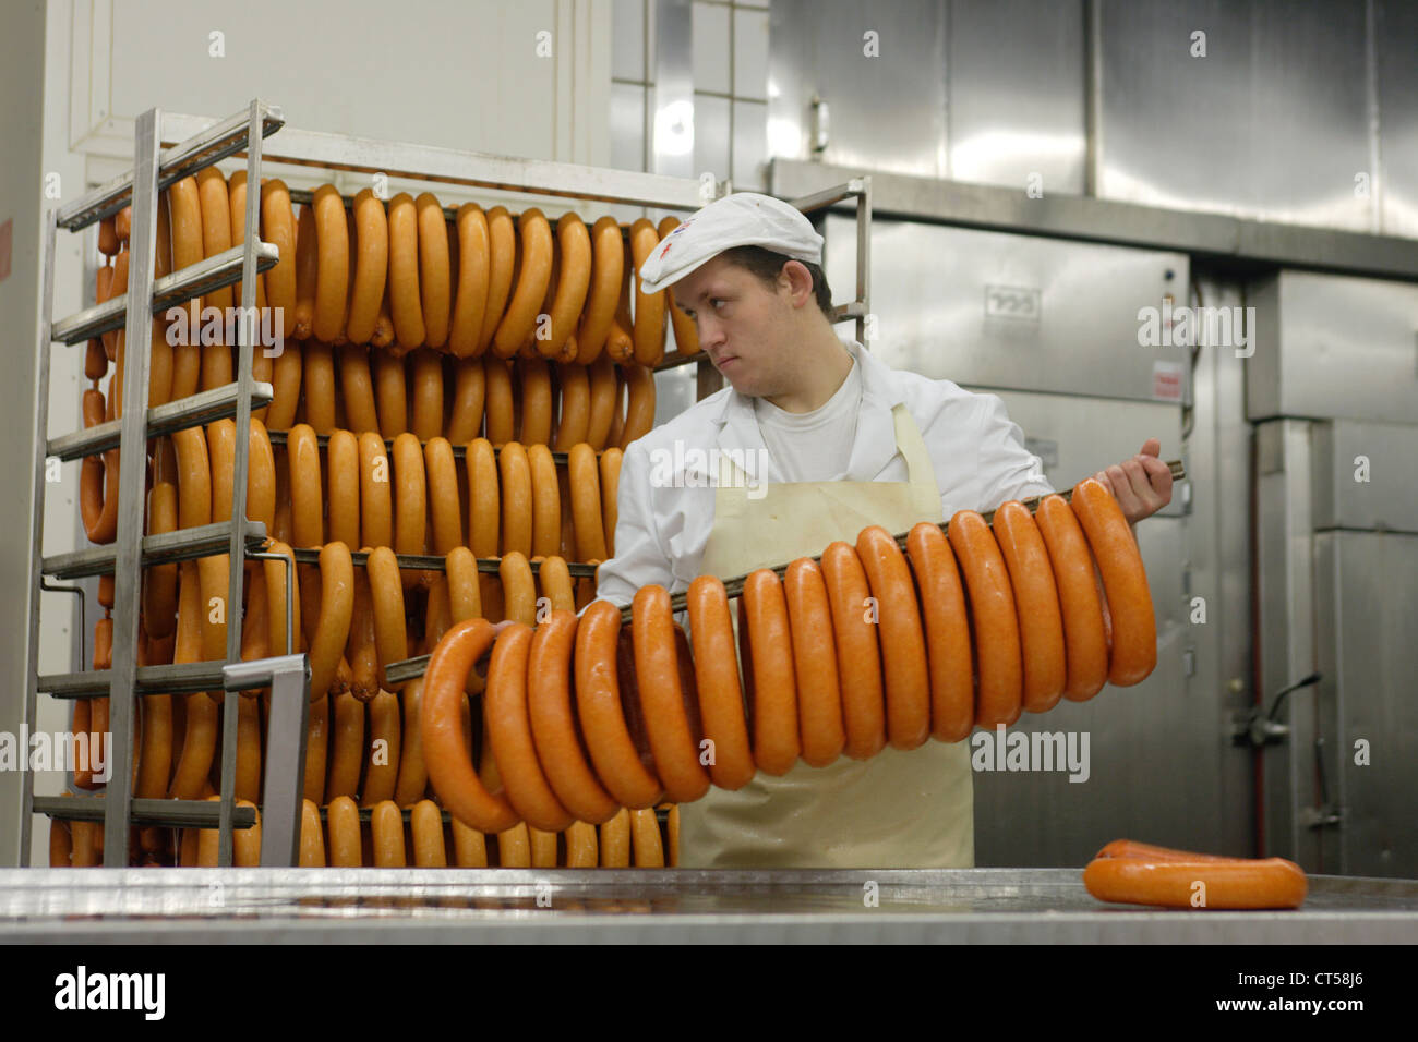
[{"label": "stainless steel upper wall panel with bright glare, left of the widest", "polygon": [[1082,0],[950,0],[951,179],[1083,194],[1083,31]]}]

